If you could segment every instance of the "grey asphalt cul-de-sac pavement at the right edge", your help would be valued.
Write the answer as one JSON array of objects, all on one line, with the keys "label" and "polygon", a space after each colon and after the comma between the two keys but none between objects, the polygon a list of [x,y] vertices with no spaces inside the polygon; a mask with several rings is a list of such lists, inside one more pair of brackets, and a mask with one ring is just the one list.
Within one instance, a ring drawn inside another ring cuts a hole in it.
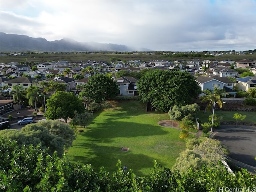
[{"label": "grey asphalt cul-de-sac pavement at the right edge", "polygon": [[256,167],[256,130],[221,130],[212,138],[228,147],[231,158]]}]

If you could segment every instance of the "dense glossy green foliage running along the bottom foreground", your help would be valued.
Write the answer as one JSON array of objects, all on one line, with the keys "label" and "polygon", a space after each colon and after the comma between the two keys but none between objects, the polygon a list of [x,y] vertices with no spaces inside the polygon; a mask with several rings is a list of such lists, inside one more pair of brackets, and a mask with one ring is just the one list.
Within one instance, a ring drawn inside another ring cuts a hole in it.
[{"label": "dense glossy green foliage running along the bottom foreground", "polygon": [[148,177],[138,177],[132,170],[124,171],[118,160],[117,171],[110,175],[101,168],[94,171],[90,164],[72,164],[66,156],[49,155],[40,146],[18,147],[17,142],[0,138],[0,190],[13,191],[103,191],[103,192],[169,192],[218,191],[219,188],[253,188],[256,177],[246,170],[235,175],[221,164],[202,166],[186,174],[171,172],[154,161]]}]

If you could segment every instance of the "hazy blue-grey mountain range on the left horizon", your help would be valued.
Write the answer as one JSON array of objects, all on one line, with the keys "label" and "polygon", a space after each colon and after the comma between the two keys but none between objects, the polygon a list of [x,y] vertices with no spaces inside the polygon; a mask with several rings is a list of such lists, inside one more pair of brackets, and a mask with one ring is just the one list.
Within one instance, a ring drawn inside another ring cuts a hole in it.
[{"label": "hazy blue-grey mountain range on the left horizon", "polygon": [[1,52],[92,52],[92,51],[152,51],[146,48],[135,48],[126,45],[97,42],[77,42],[69,38],[47,41],[44,38],[33,38],[26,35],[0,33]]}]

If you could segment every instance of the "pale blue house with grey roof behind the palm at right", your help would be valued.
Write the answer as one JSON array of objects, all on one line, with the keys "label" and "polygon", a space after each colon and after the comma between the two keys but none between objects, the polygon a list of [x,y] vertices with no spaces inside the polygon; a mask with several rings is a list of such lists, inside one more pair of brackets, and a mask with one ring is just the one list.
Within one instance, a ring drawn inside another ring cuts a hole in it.
[{"label": "pale blue house with grey roof behind the palm at right", "polygon": [[236,97],[236,90],[233,90],[234,82],[230,81],[227,77],[209,77],[209,76],[199,76],[196,78],[198,86],[201,87],[201,90],[214,90],[214,87],[219,87],[226,91],[226,96]]}]

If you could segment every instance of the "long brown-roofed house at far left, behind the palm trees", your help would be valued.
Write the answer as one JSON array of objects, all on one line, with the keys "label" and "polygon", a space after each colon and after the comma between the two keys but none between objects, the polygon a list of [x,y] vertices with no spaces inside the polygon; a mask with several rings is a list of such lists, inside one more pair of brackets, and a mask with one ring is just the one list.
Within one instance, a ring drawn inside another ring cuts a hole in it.
[{"label": "long brown-roofed house at far left, behind the palm trees", "polygon": [[29,86],[39,86],[38,82],[42,81],[41,79],[32,78],[32,77],[18,77],[15,79],[8,80],[6,82],[3,82],[3,86],[9,85],[11,88],[14,85],[22,85],[24,89],[28,88]]}]

